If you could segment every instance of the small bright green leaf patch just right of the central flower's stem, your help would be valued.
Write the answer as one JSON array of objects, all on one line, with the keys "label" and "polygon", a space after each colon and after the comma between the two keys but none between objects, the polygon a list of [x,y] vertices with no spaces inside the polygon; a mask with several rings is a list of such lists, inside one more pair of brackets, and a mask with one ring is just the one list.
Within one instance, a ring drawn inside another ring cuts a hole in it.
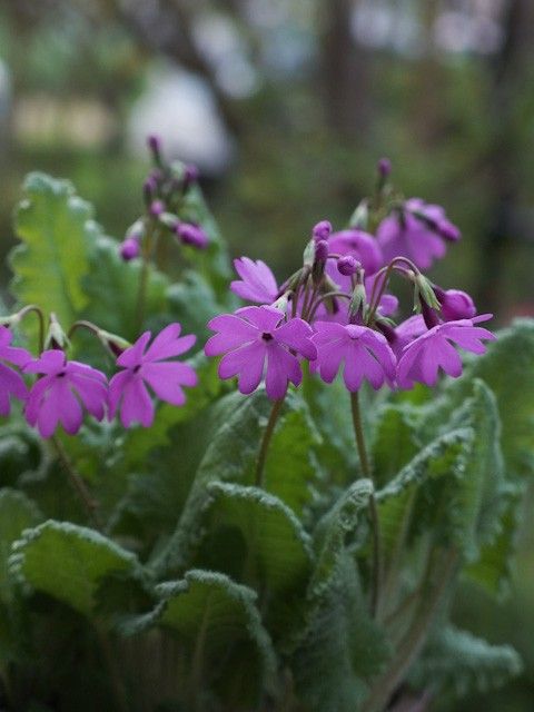
[{"label": "small bright green leaf patch just right of the central flower's stem", "polygon": [[389,482],[419,451],[417,424],[406,405],[384,406],[378,414],[372,447],[374,479],[377,487]]}]

